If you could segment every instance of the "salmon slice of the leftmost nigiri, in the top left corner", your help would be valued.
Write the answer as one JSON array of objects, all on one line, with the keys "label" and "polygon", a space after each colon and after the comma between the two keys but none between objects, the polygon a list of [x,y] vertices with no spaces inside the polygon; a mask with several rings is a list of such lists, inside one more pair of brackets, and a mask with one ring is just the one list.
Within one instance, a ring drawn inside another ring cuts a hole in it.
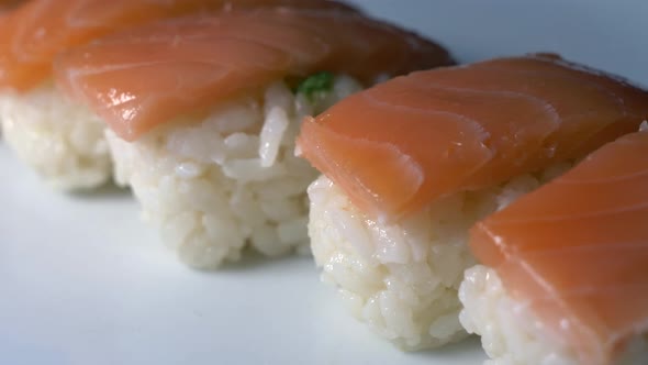
[{"label": "salmon slice of the leftmost nigiri, in the top left corner", "polygon": [[57,53],[120,29],[188,13],[275,5],[355,11],[328,0],[32,0],[0,20],[0,87],[27,90],[51,75]]}]

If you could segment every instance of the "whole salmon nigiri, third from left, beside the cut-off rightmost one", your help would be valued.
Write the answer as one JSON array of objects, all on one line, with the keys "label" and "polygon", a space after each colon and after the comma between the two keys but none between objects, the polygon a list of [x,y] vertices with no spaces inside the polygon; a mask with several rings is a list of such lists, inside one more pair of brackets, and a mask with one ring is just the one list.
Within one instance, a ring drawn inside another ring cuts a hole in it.
[{"label": "whole salmon nigiri, third from left, beside the cut-off rightmost one", "polygon": [[306,119],[322,278],[404,350],[466,336],[468,230],[648,117],[648,92],[551,54],[417,71]]}]

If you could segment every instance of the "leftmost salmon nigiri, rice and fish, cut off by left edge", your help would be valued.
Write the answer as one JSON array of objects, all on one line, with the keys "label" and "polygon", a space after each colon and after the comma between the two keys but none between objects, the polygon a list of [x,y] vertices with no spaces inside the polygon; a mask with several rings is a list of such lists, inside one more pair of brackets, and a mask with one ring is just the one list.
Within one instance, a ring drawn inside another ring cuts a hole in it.
[{"label": "leftmost salmon nigiri, rice and fish, cut off by left edge", "polygon": [[327,0],[32,0],[0,18],[0,120],[15,155],[53,187],[111,178],[104,124],[52,80],[57,53],[159,19],[256,7],[356,11]]}]

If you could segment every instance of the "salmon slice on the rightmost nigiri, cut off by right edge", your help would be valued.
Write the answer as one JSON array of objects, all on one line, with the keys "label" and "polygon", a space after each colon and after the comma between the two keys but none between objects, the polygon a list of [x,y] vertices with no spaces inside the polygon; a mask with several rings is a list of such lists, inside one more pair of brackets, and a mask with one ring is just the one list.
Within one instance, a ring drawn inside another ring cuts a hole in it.
[{"label": "salmon slice on the rightmost nigiri, cut off by right edge", "polygon": [[582,364],[648,331],[648,133],[618,139],[471,230],[470,247]]}]

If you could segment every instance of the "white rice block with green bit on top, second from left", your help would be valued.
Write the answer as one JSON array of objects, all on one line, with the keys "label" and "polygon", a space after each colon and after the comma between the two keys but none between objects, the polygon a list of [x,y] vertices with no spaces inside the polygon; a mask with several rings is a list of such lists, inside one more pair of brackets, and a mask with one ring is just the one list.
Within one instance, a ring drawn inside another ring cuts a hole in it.
[{"label": "white rice block with green bit on top, second from left", "polygon": [[262,98],[231,101],[134,143],[107,132],[115,179],[132,187],[145,219],[190,266],[237,261],[248,245],[268,256],[309,252],[305,190],[317,174],[294,156],[294,139],[313,108],[359,89],[339,76],[331,93],[310,102],[277,82]]}]

